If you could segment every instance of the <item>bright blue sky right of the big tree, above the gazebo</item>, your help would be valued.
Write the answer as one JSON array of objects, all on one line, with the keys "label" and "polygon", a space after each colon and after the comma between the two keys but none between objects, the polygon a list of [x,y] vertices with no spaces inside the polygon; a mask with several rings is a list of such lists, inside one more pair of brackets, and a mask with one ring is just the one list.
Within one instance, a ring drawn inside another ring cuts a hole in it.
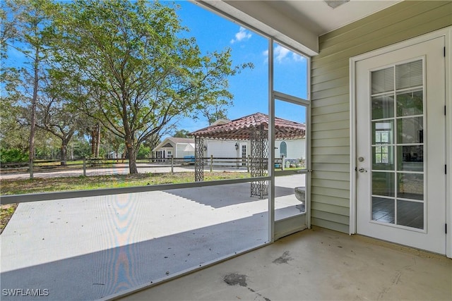
[{"label": "bright blue sky right of the big tree, above the gazebo", "polygon": [[[196,37],[201,51],[232,49],[234,64],[251,62],[254,69],[244,70],[230,78],[234,106],[227,116],[240,118],[251,113],[268,113],[268,39],[246,30],[215,13],[192,4],[177,1],[182,24],[189,27],[189,35]],[[275,90],[307,98],[307,60],[284,47],[274,45]],[[305,122],[304,109],[292,104],[275,104],[275,115],[297,122]],[[183,119],[179,128],[189,131],[207,126],[204,120]]]}]

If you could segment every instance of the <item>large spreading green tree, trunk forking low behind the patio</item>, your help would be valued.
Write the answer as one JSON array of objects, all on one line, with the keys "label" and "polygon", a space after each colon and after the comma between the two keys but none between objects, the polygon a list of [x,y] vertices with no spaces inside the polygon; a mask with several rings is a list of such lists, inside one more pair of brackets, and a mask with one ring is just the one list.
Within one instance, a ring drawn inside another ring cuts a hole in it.
[{"label": "large spreading green tree, trunk forking low behind the patio", "polygon": [[61,76],[83,82],[78,109],[124,140],[130,173],[143,142],[231,99],[227,78],[251,66],[232,66],[230,49],[202,56],[185,34],[174,8],[157,1],[76,0],[56,22]]}]

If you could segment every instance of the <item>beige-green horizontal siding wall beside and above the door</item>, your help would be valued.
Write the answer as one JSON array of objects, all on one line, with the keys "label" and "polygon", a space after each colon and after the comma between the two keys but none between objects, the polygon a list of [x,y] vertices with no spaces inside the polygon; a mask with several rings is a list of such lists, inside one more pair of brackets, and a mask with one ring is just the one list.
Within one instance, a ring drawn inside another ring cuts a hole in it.
[{"label": "beige-green horizontal siding wall beside and above the door", "polygon": [[349,232],[350,57],[452,25],[452,1],[403,1],[319,38],[311,62],[311,223]]}]

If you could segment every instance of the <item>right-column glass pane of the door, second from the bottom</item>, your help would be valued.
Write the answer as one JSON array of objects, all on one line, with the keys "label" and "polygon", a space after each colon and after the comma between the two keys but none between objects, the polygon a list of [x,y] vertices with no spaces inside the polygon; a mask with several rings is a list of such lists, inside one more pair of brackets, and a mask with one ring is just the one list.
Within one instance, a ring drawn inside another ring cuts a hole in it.
[{"label": "right-column glass pane of the door, second from the bottom", "polygon": [[398,173],[397,197],[424,199],[424,175],[422,173]]}]

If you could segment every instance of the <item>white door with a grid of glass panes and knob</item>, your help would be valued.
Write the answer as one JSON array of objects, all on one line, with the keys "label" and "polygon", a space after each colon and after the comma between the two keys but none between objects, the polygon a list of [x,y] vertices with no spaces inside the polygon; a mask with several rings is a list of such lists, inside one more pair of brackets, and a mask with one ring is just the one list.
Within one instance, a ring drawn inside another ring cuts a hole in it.
[{"label": "white door with a grid of glass panes and knob", "polygon": [[446,254],[444,37],[355,65],[357,233]]}]

